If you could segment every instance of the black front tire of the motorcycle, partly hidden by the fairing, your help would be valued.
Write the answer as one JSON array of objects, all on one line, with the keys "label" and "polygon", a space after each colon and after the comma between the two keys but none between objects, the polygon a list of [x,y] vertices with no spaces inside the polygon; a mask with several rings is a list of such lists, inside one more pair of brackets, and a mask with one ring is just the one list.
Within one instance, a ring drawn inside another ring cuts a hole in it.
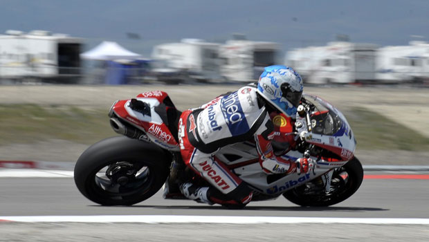
[{"label": "black front tire of the motorcycle, partly hidden by the fairing", "polygon": [[[344,180],[340,174],[347,174],[347,179]],[[325,194],[320,193],[307,193],[307,183],[300,187],[295,187],[283,194],[283,196],[300,206],[311,207],[327,207],[345,201],[352,196],[360,187],[363,180],[363,168],[359,160],[354,157],[346,163],[343,167],[334,170],[332,176],[333,182],[336,181],[336,189],[333,192]]]}]

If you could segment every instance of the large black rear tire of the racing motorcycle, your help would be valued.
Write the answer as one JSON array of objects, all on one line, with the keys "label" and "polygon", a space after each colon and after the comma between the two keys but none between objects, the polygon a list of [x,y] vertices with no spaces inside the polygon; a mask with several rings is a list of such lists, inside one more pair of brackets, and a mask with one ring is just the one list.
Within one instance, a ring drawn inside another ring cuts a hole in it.
[{"label": "large black rear tire of the racing motorcycle", "polygon": [[[152,143],[125,136],[107,138],[91,145],[77,160],[75,184],[94,203],[133,205],[161,189],[170,160],[163,149]],[[104,173],[110,175],[101,176],[99,171],[106,168]]]}]

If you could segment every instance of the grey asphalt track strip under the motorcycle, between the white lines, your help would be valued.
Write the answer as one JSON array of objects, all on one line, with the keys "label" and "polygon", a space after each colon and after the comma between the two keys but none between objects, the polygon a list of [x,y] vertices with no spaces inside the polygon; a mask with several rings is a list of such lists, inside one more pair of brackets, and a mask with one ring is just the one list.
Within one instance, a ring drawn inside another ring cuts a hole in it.
[{"label": "grey asphalt track strip under the motorcycle, between the white lines", "polygon": [[244,210],[165,200],[158,192],[130,207],[99,206],[80,194],[73,178],[0,178],[0,216],[57,215],[208,215],[341,218],[429,218],[429,180],[365,179],[347,201],[325,208],[299,207],[282,196],[253,202]]}]

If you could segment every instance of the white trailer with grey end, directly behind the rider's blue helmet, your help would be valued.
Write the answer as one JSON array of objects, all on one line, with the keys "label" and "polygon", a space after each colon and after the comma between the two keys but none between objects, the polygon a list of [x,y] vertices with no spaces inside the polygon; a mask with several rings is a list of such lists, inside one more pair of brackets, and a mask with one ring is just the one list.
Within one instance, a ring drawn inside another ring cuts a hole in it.
[{"label": "white trailer with grey end, directly behind the rider's blue helmet", "polygon": [[276,64],[280,46],[274,42],[234,39],[221,46],[221,74],[235,82],[255,82],[265,66]]}]

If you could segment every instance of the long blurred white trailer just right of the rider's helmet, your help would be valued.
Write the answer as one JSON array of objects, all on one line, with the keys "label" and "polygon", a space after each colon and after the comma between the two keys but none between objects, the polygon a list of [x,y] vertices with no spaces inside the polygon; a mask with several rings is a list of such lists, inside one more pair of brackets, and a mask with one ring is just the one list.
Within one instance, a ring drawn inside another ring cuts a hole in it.
[{"label": "long blurred white trailer just right of the rider's helmet", "polygon": [[327,46],[291,50],[285,64],[311,84],[374,82],[376,50],[375,44],[329,42]]}]

